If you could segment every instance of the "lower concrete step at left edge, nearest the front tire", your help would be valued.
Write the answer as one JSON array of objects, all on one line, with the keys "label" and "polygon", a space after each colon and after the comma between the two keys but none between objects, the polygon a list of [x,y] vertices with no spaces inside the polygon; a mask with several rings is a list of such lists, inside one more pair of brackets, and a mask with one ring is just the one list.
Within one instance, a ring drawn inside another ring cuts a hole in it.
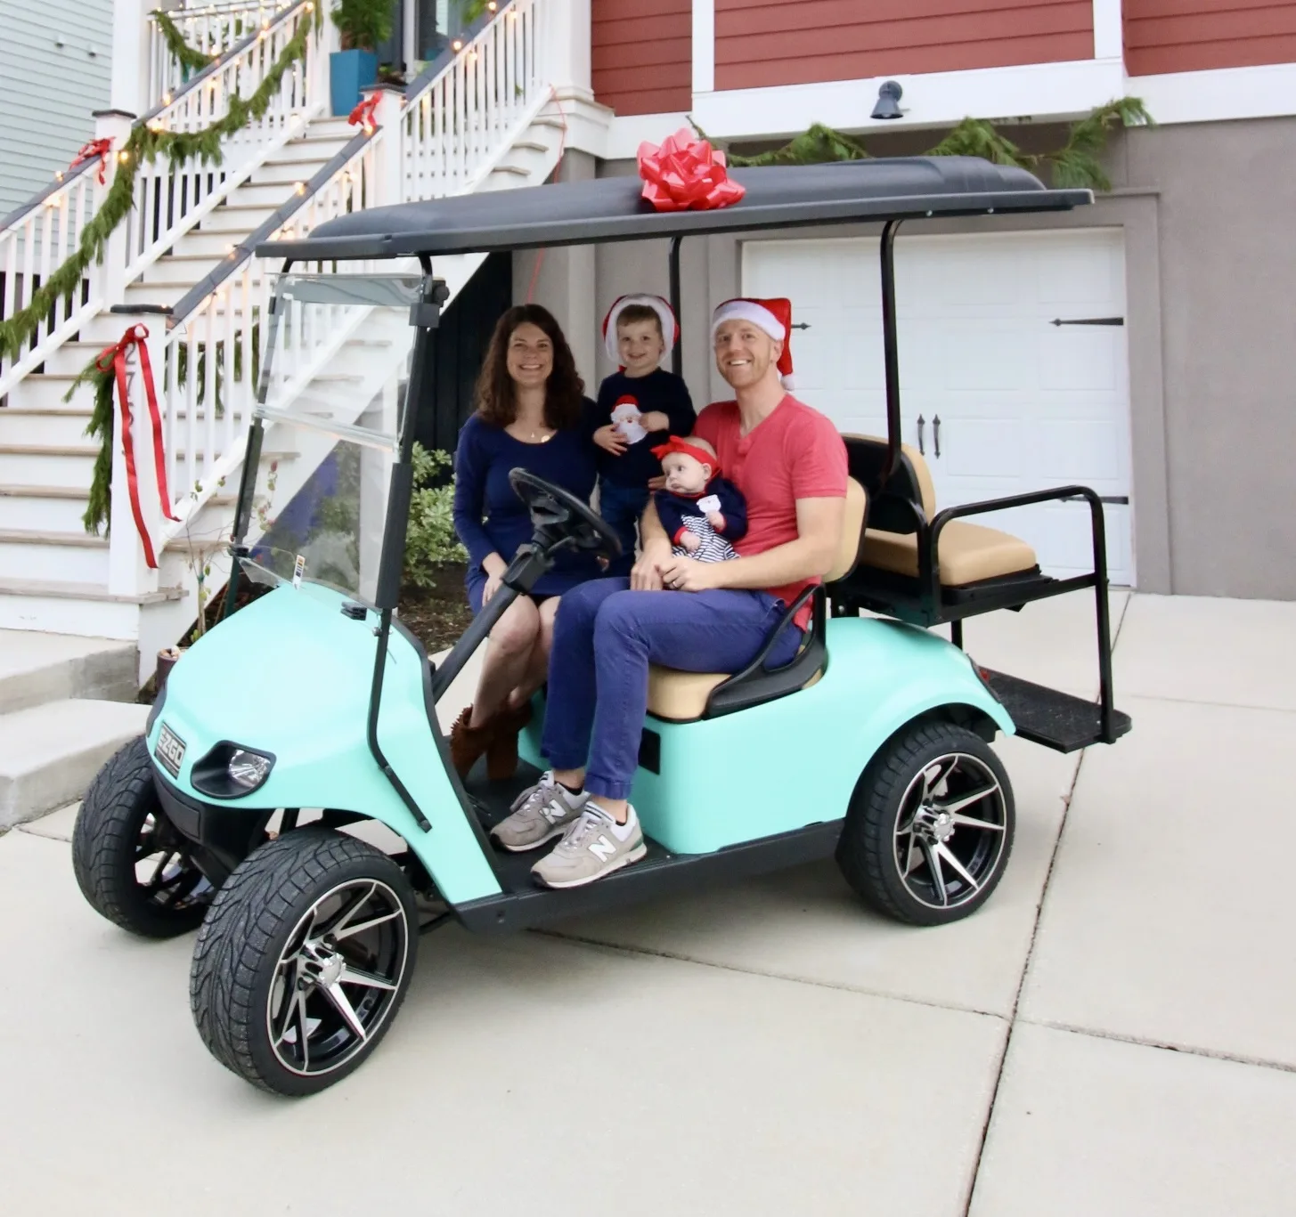
[{"label": "lower concrete step at left edge, nearest the front tire", "polygon": [[74,803],[144,730],[148,706],[65,699],[0,715],[0,826]]}]

